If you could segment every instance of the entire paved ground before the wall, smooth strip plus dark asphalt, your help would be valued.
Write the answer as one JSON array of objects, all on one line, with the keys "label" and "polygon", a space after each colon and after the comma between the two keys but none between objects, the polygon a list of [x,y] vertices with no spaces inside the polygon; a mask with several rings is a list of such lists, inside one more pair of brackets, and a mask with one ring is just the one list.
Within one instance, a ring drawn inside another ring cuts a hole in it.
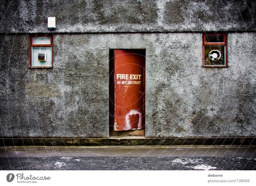
[{"label": "entire paved ground before the wall, smooth strip plus dark asphalt", "polygon": [[256,147],[2,146],[1,170],[256,170]]}]

